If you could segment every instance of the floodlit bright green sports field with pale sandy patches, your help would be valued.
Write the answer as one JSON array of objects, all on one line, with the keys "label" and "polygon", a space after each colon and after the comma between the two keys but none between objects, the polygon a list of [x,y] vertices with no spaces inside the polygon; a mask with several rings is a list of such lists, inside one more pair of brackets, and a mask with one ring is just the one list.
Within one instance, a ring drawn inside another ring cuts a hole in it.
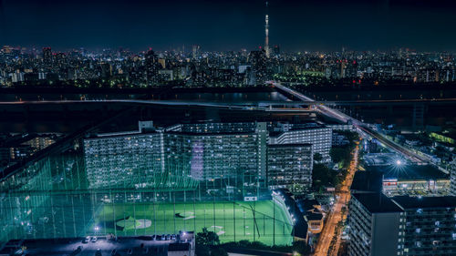
[{"label": "floodlit bright green sports field with pale sandy patches", "polygon": [[199,232],[206,227],[226,241],[290,244],[293,227],[283,206],[256,202],[122,203],[101,206],[95,217],[98,233],[118,236]]}]

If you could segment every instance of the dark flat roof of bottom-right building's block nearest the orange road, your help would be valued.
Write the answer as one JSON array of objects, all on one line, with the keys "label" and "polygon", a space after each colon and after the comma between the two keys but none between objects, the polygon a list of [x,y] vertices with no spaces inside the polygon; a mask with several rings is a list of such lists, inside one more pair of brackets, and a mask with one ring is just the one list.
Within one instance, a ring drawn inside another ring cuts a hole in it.
[{"label": "dark flat roof of bottom-right building's block nearest the orange road", "polygon": [[352,197],[364,205],[371,213],[402,211],[394,201],[382,193],[354,193]]}]

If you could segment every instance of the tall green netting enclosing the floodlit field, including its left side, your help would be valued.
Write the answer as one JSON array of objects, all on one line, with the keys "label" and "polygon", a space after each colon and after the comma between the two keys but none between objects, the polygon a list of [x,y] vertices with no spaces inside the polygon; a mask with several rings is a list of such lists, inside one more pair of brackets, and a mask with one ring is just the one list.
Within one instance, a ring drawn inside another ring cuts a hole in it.
[{"label": "tall green netting enclosing the floodlit field, including its left side", "polygon": [[[197,181],[177,170],[131,173],[120,185],[94,188],[78,153],[19,169],[0,181],[0,241],[168,234],[203,227],[219,233],[221,241],[292,241],[284,207],[273,203],[254,174]],[[244,202],[244,196],[259,201]]]}]

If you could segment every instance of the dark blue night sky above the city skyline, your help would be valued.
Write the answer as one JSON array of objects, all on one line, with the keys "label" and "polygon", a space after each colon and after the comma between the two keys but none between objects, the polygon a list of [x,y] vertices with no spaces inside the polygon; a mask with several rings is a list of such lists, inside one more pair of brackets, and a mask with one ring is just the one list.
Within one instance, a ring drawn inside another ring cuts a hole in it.
[{"label": "dark blue night sky above the city skyline", "polygon": [[[456,1],[270,0],[270,44],[285,50],[456,51]],[[0,45],[254,49],[264,1],[0,0]]]}]

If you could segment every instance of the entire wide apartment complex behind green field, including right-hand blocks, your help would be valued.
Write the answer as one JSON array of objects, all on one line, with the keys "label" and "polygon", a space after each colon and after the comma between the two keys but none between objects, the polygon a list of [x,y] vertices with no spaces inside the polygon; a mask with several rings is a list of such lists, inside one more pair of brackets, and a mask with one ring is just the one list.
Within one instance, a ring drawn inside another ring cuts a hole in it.
[{"label": "entire wide apartment complex behind green field, including right-hand blocks", "polygon": [[[213,182],[211,186],[219,188],[248,184],[307,189],[314,147],[323,147],[324,140],[331,147],[330,129],[320,128],[305,128],[303,134],[294,136],[296,140],[309,140],[301,137],[310,136],[316,143],[311,144],[272,138],[264,122],[181,124],[160,129],[152,128],[151,122],[140,122],[137,131],[84,139],[88,180],[91,188],[156,187],[163,183],[158,176],[167,182],[164,176],[170,176],[175,182],[192,179]],[[329,148],[325,149],[327,156]],[[107,172],[109,179],[103,178]]]}]

